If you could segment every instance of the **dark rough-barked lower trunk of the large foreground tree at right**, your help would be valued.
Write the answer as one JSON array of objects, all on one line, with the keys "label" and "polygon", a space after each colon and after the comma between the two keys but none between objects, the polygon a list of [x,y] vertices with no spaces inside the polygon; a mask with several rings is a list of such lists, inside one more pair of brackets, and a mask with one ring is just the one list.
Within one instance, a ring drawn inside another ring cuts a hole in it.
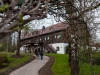
[{"label": "dark rough-barked lower trunk of the large foreground tree at right", "polygon": [[72,35],[71,43],[71,75],[79,75],[79,59],[78,59],[78,45],[77,37]]}]

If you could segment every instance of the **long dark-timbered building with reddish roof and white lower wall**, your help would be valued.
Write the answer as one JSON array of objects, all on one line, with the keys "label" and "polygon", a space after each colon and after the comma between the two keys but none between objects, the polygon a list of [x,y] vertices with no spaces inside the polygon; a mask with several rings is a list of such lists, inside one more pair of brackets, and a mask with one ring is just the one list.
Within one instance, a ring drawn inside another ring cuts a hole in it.
[{"label": "long dark-timbered building with reddish roof and white lower wall", "polygon": [[27,48],[43,47],[45,51],[64,54],[68,45],[68,29],[66,23],[58,23],[27,34],[20,40],[21,46]]}]

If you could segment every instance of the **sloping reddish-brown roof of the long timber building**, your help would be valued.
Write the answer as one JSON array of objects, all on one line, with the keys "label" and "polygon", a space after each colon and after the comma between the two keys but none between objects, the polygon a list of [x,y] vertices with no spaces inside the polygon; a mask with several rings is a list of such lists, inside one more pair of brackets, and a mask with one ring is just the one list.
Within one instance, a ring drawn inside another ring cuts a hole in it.
[{"label": "sloping reddish-brown roof of the long timber building", "polygon": [[39,36],[39,35],[43,35],[43,34],[48,34],[48,33],[59,31],[59,30],[64,30],[64,29],[66,29],[68,27],[69,27],[69,25],[66,24],[66,23],[54,24],[52,26],[46,27],[44,30],[43,29],[39,29],[39,30],[36,30],[36,31],[34,31],[34,32],[30,33],[30,34],[27,34],[23,39],[30,38],[30,37],[33,37],[33,36]]}]

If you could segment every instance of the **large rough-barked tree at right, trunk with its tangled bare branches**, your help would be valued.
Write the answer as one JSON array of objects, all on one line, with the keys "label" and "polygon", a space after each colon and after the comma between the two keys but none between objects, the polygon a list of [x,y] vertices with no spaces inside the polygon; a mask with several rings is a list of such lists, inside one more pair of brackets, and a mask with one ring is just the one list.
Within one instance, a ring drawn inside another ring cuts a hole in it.
[{"label": "large rough-barked tree at right, trunk with its tangled bare branches", "polygon": [[[100,3],[99,0],[63,1],[62,3],[55,2],[56,6],[54,7],[48,6],[48,10],[50,14],[51,12],[54,14],[57,21],[60,21],[60,17],[63,17],[70,25],[69,57],[71,61],[71,74],[79,75],[79,51],[82,46],[90,46],[91,35],[89,31],[93,31],[92,29],[97,27],[96,25],[91,26],[91,23],[93,25],[93,20],[91,19],[94,19],[94,17],[91,16],[90,12],[96,10],[100,6]],[[52,11],[51,9],[55,9],[56,11]]]}]

